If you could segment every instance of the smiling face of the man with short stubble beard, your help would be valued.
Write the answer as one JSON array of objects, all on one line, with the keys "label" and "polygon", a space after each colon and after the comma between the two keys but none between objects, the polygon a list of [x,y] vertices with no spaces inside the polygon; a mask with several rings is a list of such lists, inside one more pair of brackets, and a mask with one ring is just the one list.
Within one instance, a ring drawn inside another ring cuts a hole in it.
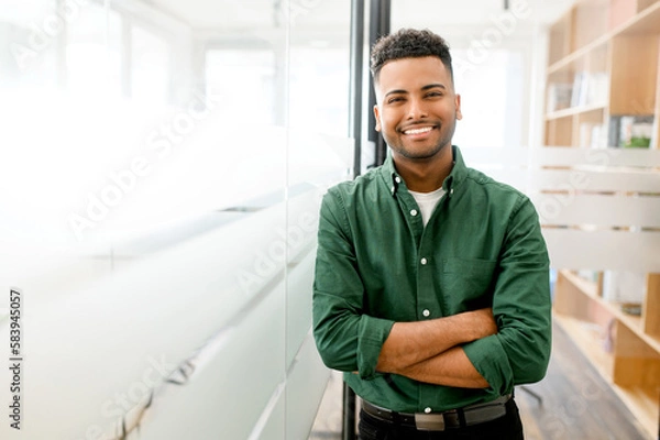
[{"label": "smiling face of the man with short stubble beard", "polygon": [[386,63],[375,86],[376,130],[395,158],[429,160],[451,145],[461,97],[440,58],[426,56]]}]

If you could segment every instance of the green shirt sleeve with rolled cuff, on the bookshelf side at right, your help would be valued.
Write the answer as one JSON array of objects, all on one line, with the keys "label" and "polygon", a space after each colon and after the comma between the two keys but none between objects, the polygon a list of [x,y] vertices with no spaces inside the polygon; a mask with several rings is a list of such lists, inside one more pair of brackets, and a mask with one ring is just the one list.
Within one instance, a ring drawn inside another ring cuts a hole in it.
[{"label": "green shirt sleeve with rolled cuff, on the bookshelf side at right", "polygon": [[546,242],[528,198],[520,196],[512,212],[493,296],[498,333],[463,346],[474,367],[498,394],[540,381],[551,349]]}]

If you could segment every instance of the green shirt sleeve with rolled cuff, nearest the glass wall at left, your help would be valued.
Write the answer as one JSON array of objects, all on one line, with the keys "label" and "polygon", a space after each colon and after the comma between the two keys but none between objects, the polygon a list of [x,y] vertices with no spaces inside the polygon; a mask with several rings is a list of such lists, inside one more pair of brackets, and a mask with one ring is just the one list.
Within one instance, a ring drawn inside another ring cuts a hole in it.
[{"label": "green shirt sleeve with rolled cuff, nearest the glass wall at left", "polygon": [[394,321],[363,314],[364,285],[358,271],[349,216],[332,188],[321,204],[315,268],[314,336],[323,363],[374,378]]}]

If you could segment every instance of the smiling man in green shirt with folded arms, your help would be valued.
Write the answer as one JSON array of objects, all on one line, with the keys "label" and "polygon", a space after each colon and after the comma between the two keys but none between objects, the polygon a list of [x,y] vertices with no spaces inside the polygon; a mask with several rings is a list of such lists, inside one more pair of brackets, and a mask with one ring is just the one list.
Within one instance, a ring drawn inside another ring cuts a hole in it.
[{"label": "smiling man in green shirt with folded arms", "polygon": [[514,386],[550,356],[538,216],[452,146],[461,99],[443,38],[402,30],[371,62],[391,155],[323,198],[318,350],[362,397],[361,439],[521,439]]}]

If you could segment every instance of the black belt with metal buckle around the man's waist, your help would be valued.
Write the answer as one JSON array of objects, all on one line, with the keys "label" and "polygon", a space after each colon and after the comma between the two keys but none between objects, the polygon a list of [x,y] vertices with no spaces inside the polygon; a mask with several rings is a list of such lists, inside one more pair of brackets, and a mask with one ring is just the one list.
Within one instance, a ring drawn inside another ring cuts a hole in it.
[{"label": "black belt with metal buckle around the man's waist", "polygon": [[424,431],[443,431],[446,428],[462,428],[495,420],[506,415],[506,404],[512,395],[502,396],[486,404],[470,405],[443,413],[397,413],[362,400],[362,409],[370,416],[393,425],[406,426]]}]

